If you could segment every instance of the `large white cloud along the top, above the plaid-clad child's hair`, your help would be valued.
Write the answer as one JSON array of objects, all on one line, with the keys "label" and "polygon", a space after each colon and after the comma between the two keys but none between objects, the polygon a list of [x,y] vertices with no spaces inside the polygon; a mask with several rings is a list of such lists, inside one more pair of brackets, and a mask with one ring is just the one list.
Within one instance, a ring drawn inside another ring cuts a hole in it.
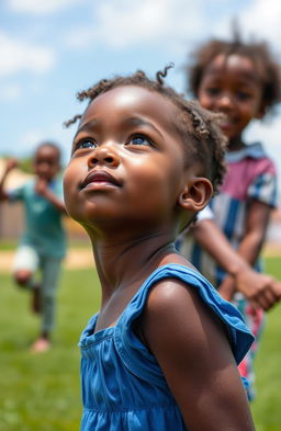
[{"label": "large white cloud along the top, above the plaid-clad child's hair", "polygon": [[79,48],[93,44],[115,49],[156,45],[158,49],[186,52],[189,42],[228,35],[236,16],[243,32],[281,47],[280,0],[239,2],[229,13],[222,13],[222,5],[217,1],[210,10],[206,0],[103,0],[94,2],[92,25],[72,29],[67,42]]}]

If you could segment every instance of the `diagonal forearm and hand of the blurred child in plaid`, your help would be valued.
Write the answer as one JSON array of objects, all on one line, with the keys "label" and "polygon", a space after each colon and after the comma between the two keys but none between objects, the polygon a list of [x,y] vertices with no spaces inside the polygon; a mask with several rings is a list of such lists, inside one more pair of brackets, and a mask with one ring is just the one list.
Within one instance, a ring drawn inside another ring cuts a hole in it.
[{"label": "diagonal forearm and hand of the blurred child in plaid", "polygon": [[281,283],[270,275],[259,274],[247,259],[233,249],[223,231],[212,219],[194,226],[198,242],[229,274],[220,286],[221,295],[231,300],[236,291],[241,292],[254,307],[268,310],[281,298]]}]

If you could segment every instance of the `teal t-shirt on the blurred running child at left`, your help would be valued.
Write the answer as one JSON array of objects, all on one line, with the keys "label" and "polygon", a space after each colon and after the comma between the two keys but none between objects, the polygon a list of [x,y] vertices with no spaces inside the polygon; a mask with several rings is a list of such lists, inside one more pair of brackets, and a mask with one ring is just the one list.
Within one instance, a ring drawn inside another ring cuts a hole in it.
[{"label": "teal t-shirt on the blurred running child at left", "polygon": [[[63,213],[44,196],[35,193],[35,180],[9,192],[11,202],[21,201],[24,205],[25,228],[21,245],[33,247],[41,256],[63,258],[66,253],[66,235],[63,227]],[[54,179],[48,188],[64,200],[63,181]]]}]

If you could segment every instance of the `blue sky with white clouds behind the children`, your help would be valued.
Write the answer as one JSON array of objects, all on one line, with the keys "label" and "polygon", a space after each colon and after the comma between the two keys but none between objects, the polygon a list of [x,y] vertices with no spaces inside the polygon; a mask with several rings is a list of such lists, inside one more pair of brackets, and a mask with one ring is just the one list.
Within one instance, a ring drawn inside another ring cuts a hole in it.
[{"label": "blue sky with white clouds behind the children", "polygon": [[[237,20],[266,39],[281,63],[280,0],[0,0],[0,156],[30,156],[42,140],[70,154],[76,126],[63,123],[86,105],[76,93],[102,78],[169,63],[167,82],[186,91],[188,55],[209,37],[229,37]],[[254,122],[281,177],[281,109]]]}]

